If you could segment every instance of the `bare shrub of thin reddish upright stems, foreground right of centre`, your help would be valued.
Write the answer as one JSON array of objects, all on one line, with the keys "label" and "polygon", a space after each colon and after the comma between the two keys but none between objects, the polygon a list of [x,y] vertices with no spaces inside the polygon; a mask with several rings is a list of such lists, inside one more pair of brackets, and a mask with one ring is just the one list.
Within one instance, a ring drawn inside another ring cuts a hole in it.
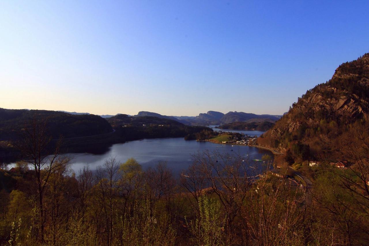
[{"label": "bare shrub of thin reddish upright stems, foreground right of centre", "polygon": [[244,243],[248,245],[299,245],[299,186],[271,176],[269,168],[246,191],[242,207]]}]

